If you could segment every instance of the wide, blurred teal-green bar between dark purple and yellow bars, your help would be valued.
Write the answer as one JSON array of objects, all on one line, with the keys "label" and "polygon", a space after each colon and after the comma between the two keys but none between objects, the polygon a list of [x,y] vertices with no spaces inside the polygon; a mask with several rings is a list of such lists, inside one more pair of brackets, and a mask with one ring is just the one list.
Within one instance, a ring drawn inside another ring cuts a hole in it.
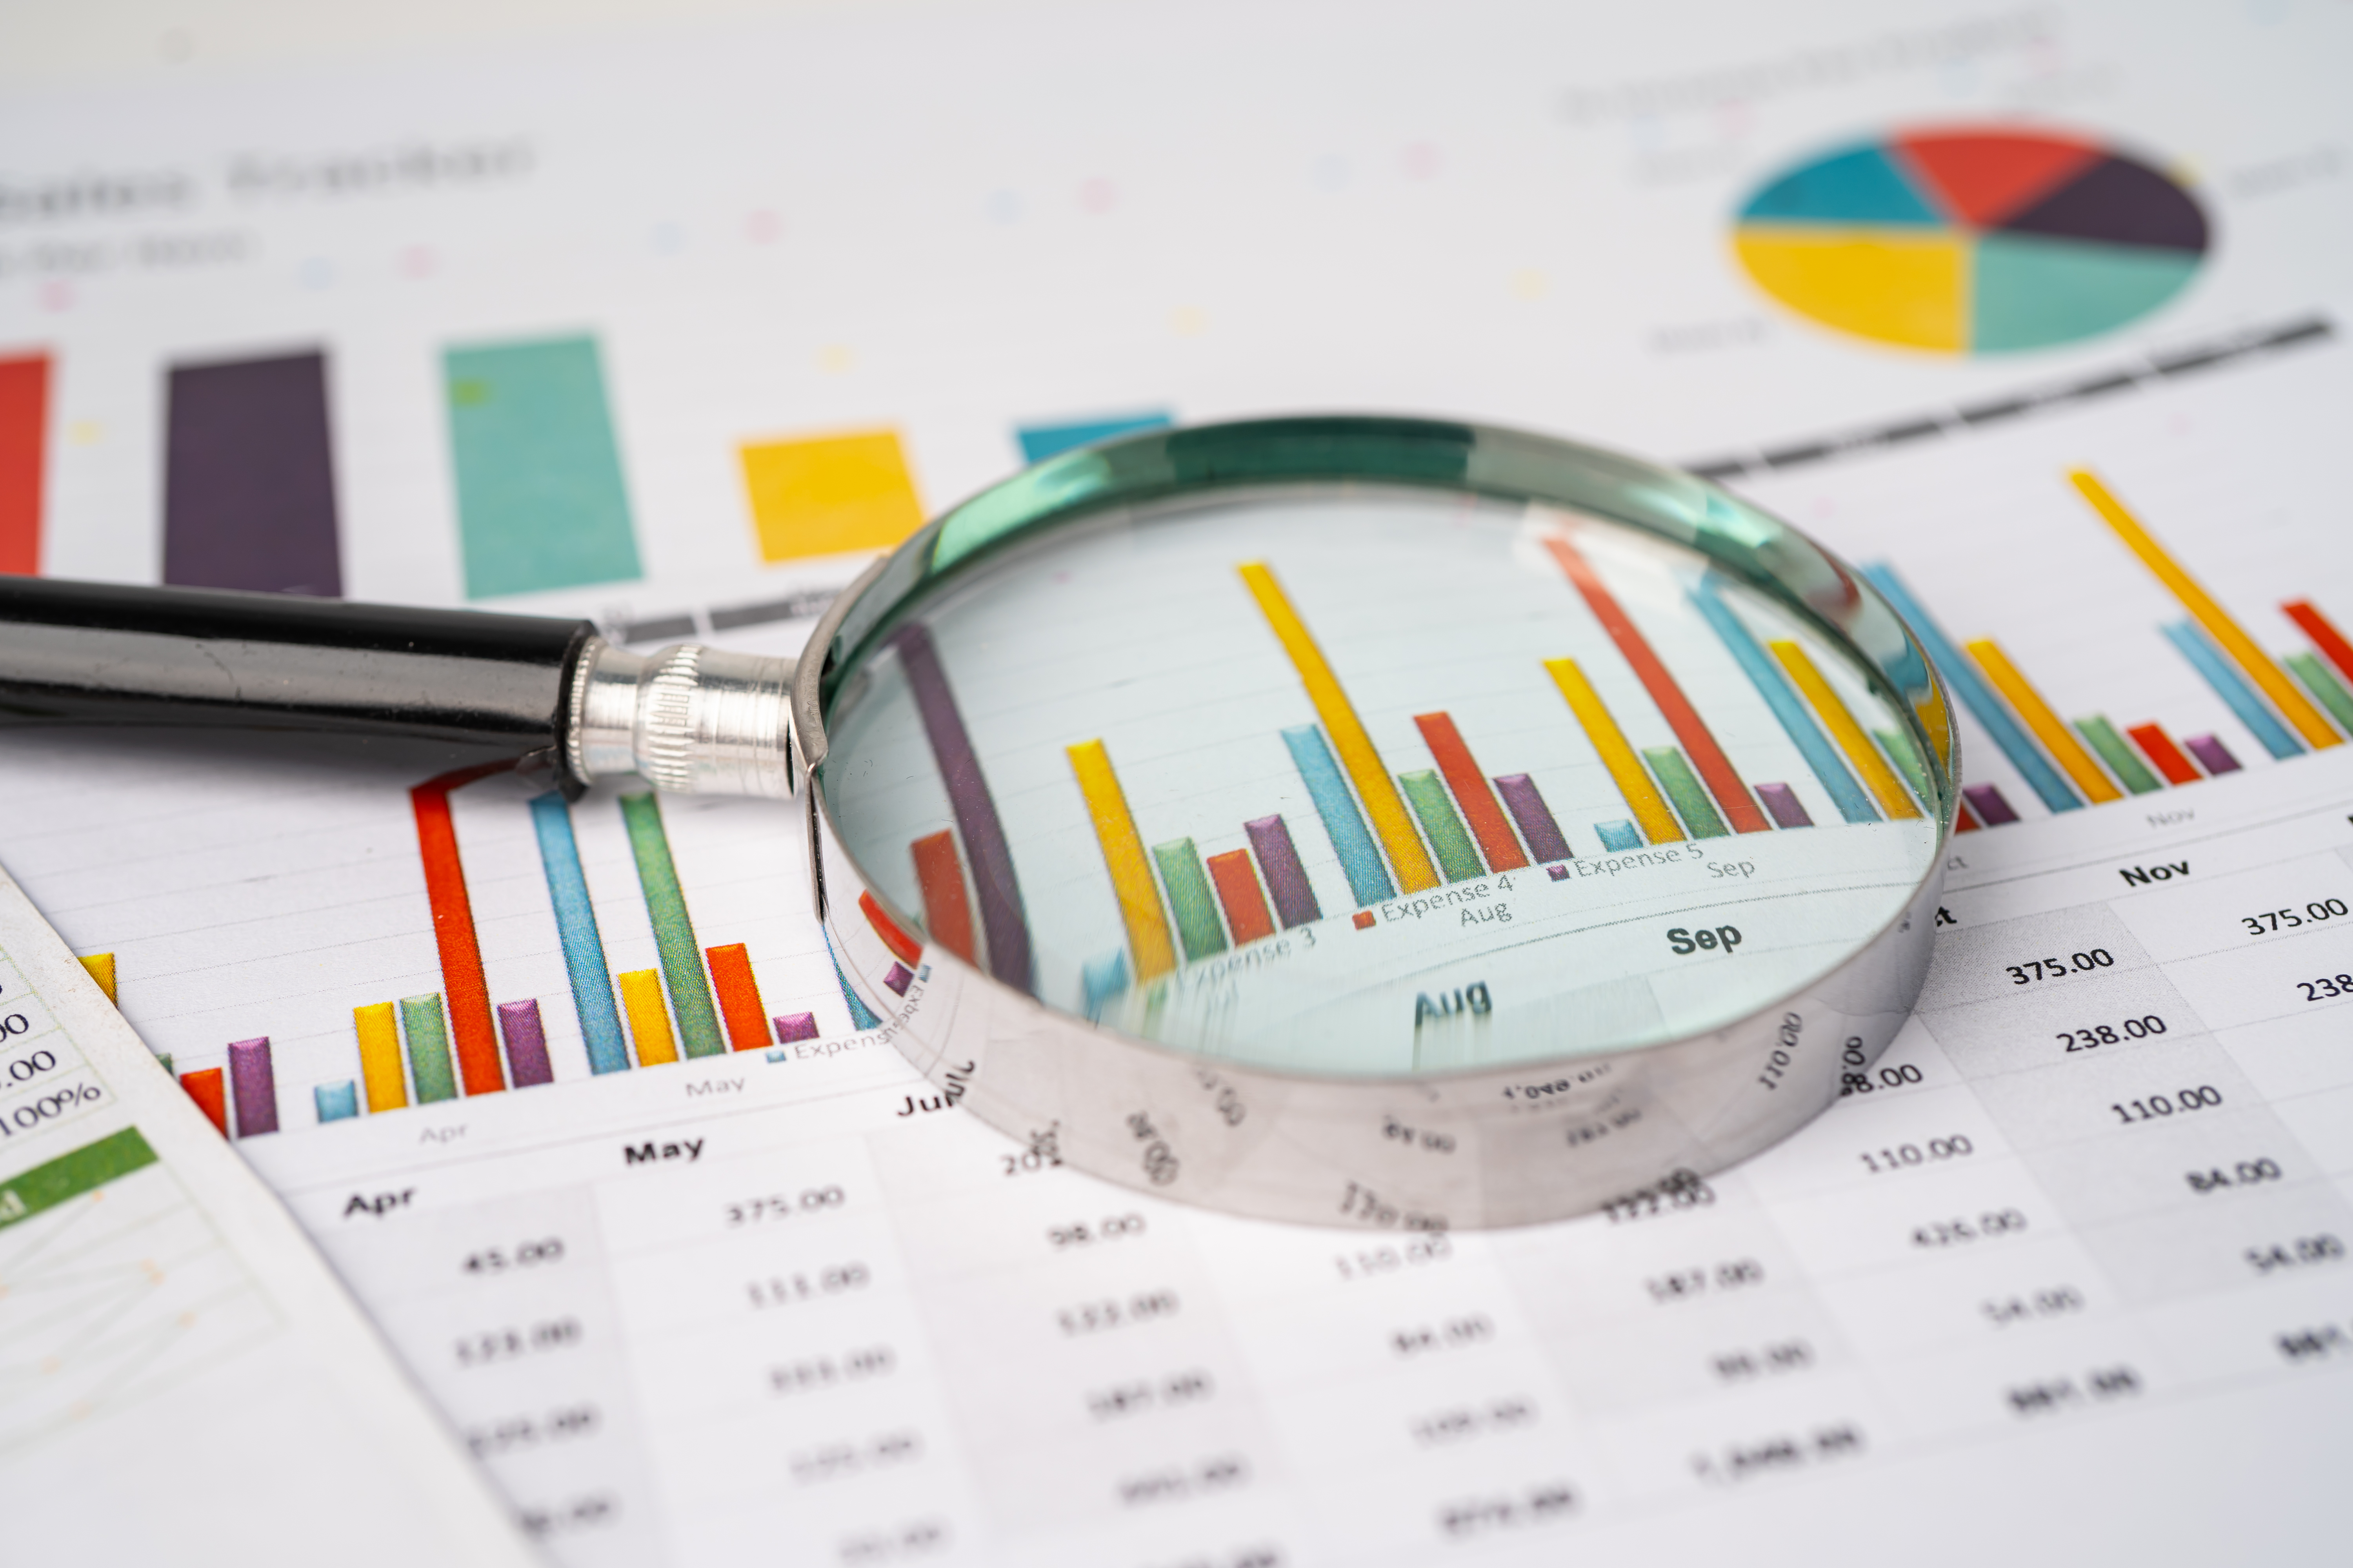
[{"label": "wide, blurred teal-green bar between dark purple and yellow bars", "polygon": [[442,353],[466,597],[645,576],[595,339]]}]

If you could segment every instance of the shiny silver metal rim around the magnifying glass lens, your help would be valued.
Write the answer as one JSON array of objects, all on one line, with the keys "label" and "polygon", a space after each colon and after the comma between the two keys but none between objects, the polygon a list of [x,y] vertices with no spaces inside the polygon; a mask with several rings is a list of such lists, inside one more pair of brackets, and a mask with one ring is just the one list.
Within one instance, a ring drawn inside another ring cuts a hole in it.
[{"label": "shiny silver metal rim around the magnifying glass lens", "polygon": [[[826,703],[894,611],[998,552],[1113,510],[1268,487],[1435,489],[1605,517],[1704,555],[1852,651],[1908,726],[1934,795],[1937,849],[1901,907],[1833,971],[1701,1034],[1504,1067],[1304,1074],[1209,1058],[1045,1006],[939,947],[922,992],[864,973],[871,896],[920,931],[840,839],[821,769]],[[1306,416],[1153,430],[1047,458],[941,515],[875,562],[809,635],[791,691],[809,863],[833,952],[892,1044],[944,1103],[1049,1145],[1054,1164],[1259,1218],[1492,1227],[1609,1204],[1699,1201],[1704,1178],[1828,1107],[1911,1013],[1927,978],[1955,733],[1927,651],[1854,569],[1687,473],[1492,425]],[[913,1001],[911,1001],[913,997]],[[1148,1133],[1148,1135],[1146,1135]],[[1141,1145],[1141,1157],[1139,1157]],[[1155,1159],[1151,1150],[1165,1150]]]}]

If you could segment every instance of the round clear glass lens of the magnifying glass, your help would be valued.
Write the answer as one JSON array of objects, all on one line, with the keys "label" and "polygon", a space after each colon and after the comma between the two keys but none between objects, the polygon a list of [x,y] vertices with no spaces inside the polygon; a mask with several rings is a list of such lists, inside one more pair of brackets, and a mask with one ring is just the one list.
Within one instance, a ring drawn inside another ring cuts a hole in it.
[{"label": "round clear glass lens of the magnifying glass", "polygon": [[1939,825],[1852,654],[1600,517],[1367,484],[1014,543],[852,654],[819,788],[932,947],[1205,1058],[1400,1077],[1741,1020]]}]

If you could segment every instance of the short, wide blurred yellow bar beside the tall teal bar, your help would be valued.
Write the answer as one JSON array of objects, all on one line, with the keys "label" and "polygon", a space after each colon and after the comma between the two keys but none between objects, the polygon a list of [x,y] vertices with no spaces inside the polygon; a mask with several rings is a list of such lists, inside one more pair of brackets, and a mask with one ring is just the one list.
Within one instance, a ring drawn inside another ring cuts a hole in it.
[{"label": "short, wide blurred yellow bar beside the tall teal bar", "polygon": [[896,430],[744,447],[760,559],[889,550],[922,527]]}]

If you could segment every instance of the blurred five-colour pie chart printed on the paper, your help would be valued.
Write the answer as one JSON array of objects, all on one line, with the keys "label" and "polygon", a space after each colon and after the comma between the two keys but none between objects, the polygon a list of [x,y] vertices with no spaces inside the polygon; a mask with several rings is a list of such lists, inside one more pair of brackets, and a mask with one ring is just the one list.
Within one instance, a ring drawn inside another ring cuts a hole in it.
[{"label": "blurred five-colour pie chart printed on the paper", "polygon": [[1734,249],[1824,327],[1948,355],[2054,348],[2134,322],[2198,275],[2205,209],[2179,181],[2064,132],[1944,127],[1769,179]]}]

